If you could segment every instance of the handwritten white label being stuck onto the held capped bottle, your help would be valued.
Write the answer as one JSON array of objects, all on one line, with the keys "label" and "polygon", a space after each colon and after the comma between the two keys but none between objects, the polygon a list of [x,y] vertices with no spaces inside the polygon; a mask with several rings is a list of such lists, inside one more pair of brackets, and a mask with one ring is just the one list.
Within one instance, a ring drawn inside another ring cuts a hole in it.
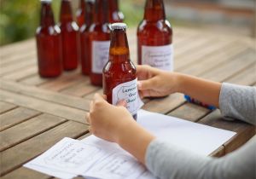
[{"label": "handwritten white label being stuck onto the held capped bottle", "polygon": [[127,103],[126,108],[133,115],[137,113],[143,106],[143,101],[138,95],[137,90],[137,78],[130,81],[125,82],[124,84],[119,84],[112,90],[112,103],[113,105],[117,105],[119,101],[125,100]]}]

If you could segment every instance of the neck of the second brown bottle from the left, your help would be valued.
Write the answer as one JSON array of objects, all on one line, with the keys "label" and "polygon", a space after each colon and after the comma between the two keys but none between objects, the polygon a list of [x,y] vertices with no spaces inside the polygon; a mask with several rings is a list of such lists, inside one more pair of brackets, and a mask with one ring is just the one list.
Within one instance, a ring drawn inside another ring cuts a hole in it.
[{"label": "neck of the second brown bottle from the left", "polygon": [[61,1],[61,23],[68,23],[73,21],[73,14],[69,0]]}]

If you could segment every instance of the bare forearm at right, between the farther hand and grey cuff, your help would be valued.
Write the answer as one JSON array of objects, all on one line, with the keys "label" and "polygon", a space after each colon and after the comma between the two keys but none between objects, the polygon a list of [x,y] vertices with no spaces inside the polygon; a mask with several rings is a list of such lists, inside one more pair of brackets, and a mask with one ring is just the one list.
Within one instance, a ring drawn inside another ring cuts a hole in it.
[{"label": "bare forearm at right, between the farther hand and grey cuff", "polygon": [[214,107],[219,107],[220,83],[181,73],[177,73],[177,81],[177,92],[189,95],[198,101],[213,105]]}]

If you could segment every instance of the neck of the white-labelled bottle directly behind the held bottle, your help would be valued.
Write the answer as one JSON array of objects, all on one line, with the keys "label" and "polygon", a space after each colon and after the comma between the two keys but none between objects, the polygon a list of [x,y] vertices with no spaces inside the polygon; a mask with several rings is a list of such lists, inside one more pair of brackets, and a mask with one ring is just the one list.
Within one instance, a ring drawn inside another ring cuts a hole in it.
[{"label": "neck of the white-labelled bottle directly behind the held bottle", "polygon": [[96,0],[94,22],[105,24],[108,22],[108,1]]}]

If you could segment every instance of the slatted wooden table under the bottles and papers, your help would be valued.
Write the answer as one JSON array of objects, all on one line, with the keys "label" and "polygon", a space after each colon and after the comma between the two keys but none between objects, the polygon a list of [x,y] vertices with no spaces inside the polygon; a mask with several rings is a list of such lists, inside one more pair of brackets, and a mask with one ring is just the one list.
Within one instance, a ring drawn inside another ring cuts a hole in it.
[{"label": "slatted wooden table under the bottles and papers", "polygon": [[[255,39],[174,30],[175,71],[218,82],[256,84]],[[131,59],[136,61],[136,30],[131,29],[128,35]],[[0,50],[1,176],[49,178],[22,165],[65,136],[88,136],[84,116],[90,99],[102,89],[90,85],[80,70],[65,72],[60,78],[40,78],[34,39]],[[146,100],[143,109],[237,132],[212,153],[216,157],[230,153],[255,134],[252,125],[224,121],[218,110],[211,112],[188,103],[182,94]]]}]

